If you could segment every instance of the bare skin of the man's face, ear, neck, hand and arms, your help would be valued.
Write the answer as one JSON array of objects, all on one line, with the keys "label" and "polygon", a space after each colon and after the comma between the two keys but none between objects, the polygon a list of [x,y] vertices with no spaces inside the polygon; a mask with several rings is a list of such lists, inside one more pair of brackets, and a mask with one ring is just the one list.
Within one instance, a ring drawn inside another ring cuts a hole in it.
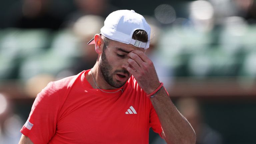
[{"label": "bare skin of the man's face, ear, neck, hand and arms", "polygon": [[[102,38],[103,36],[101,37],[99,34],[94,36],[98,59],[92,70],[86,75],[86,79],[93,88],[97,87],[91,72],[101,89],[121,88],[131,75],[147,94],[158,88],[160,82],[153,62],[146,56],[143,48],[111,40],[103,51]],[[104,70],[104,75],[101,70]],[[196,135],[193,128],[179,113],[164,89],[161,89],[150,100],[162,125],[162,137],[168,144],[195,144]],[[26,142],[30,144],[29,141],[28,137],[22,136],[20,144],[26,144]]]}]

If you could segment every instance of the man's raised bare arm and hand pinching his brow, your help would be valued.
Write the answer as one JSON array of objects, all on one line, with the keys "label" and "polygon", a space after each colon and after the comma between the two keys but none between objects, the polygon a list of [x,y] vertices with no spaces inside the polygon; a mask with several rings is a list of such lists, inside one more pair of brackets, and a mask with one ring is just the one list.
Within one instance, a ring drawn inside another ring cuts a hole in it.
[{"label": "man's raised bare arm and hand pinching his brow", "polygon": [[[153,62],[139,50],[128,54],[124,66],[136,79],[140,87],[147,93],[154,92],[160,85]],[[136,71],[135,71],[136,70]],[[150,98],[163,128],[163,138],[168,144],[195,144],[196,135],[184,116],[182,116],[164,88],[155,97]]]}]

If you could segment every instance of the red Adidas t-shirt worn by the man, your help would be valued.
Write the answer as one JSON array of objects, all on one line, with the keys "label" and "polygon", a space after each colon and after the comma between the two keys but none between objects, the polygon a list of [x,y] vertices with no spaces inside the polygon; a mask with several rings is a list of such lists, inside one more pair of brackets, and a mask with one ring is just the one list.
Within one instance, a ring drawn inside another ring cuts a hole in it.
[{"label": "red Adidas t-shirt worn by the man", "polygon": [[151,101],[133,76],[123,93],[105,93],[86,80],[89,71],[50,82],[21,133],[34,144],[148,144],[150,127],[161,135]]}]

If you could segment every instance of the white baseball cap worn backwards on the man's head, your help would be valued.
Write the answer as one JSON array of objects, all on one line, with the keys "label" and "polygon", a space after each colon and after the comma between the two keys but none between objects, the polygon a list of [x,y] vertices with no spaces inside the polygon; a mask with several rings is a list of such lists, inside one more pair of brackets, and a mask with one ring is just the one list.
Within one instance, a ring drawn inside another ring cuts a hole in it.
[{"label": "white baseball cap worn backwards on the man's head", "polygon": [[[141,42],[132,39],[135,30],[144,30],[148,34],[148,41]],[[151,28],[145,18],[134,10],[117,10],[108,15],[104,26],[100,29],[103,36],[125,44],[132,44],[136,47],[149,48]],[[94,38],[88,44],[95,44]]]}]

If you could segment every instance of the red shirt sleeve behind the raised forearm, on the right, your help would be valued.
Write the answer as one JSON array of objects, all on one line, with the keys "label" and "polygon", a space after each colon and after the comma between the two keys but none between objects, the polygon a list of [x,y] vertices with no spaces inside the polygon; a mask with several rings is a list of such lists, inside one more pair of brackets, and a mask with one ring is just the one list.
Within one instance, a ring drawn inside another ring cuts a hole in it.
[{"label": "red shirt sleeve behind the raised forearm, on the right", "polygon": [[151,110],[150,110],[150,119],[149,119],[149,125],[152,127],[153,131],[155,133],[158,133],[160,135],[160,137],[162,138],[162,126],[161,126],[161,123],[159,121],[159,118],[156,114],[156,111],[151,103]]}]

